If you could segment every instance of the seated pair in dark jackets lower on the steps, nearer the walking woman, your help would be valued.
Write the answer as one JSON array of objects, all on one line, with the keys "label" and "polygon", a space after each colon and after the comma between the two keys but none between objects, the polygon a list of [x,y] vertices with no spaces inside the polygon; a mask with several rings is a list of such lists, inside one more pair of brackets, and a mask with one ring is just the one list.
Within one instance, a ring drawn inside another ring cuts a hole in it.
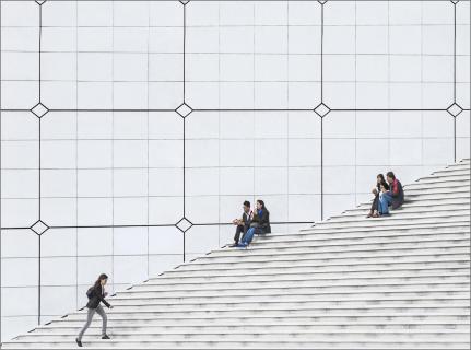
[{"label": "seated pair in dark jackets lower on the steps, nearer the walking woman", "polygon": [[256,208],[251,210],[250,202],[244,201],[244,212],[240,219],[233,220],[237,226],[234,236],[234,244],[231,247],[248,247],[255,234],[271,233],[270,212],[267,210],[263,200],[257,200]]}]

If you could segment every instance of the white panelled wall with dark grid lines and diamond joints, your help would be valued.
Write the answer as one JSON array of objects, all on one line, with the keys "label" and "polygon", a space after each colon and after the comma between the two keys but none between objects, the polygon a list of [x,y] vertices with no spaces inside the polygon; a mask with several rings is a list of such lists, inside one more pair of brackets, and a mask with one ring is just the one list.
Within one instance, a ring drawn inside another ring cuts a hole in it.
[{"label": "white panelled wall with dark grid lines and diamond joints", "polygon": [[1,10],[3,339],[228,243],[245,199],[295,232],[469,156],[468,1]]}]

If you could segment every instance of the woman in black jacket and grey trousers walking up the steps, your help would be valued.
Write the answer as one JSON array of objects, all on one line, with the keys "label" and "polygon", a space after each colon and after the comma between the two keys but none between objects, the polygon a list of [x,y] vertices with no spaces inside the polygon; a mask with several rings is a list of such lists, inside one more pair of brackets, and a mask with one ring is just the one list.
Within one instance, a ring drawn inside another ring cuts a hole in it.
[{"label": "woman in black jacket and grey trousers walking up the steps", "polygon": [[86,323],[85,326],[83,326],[82,330],[79,332],[79,337],[76,337],[75,341],[79,347],[82,347],[82,337],[85,330],[90,327],[90,324],[92,323],[93,315],[95,313],[98,313],[99,316],[102,316],[102,339],[109,339],[109,337],[106,335],[106,323],[108,320],[105,311],[103,310],[102,305],[99,303],[104,303],[106,307],[113,308],[111,305],[105,300],[105,296],[108,295],[108,293],[105,292],[105,285],[108,281],[108,276],[105,273],[99,275],[98,279],[96,280],[95,284],[91,287],[86,291],[86,296],[89,296],[89,303],[86,304],[86,307],[89,308],[87,316],[86,316]]}]

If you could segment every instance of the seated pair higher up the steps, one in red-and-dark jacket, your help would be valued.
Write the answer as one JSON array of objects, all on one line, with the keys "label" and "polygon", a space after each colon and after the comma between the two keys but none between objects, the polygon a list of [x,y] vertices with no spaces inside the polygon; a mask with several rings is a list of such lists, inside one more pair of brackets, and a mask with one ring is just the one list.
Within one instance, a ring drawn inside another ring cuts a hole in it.
[{"label": "seated pair higher up the steps, one in red-and-dark jacket", "polygon": [[372,192],[375,195],[375,199],[367,218],[388,217],[389,207],[398,209],[404,202],[402,184],[392,172],[386,174],[386,179],[382,174],[376,176],[376,187],[373,188]]}]

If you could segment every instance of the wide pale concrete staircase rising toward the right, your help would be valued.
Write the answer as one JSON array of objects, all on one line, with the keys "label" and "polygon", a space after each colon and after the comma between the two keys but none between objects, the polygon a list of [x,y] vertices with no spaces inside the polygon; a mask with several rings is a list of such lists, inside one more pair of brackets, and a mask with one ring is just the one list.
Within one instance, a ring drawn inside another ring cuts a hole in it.
[{"label": "wide pale concrete staircase rising toward the right", "polygon": [[[86,348],[469,349],[470,160],[404,187],[407,203],[370,203],[295,234],[221,248],[110,298]],[[4,349],[75,348],[84,312]]]}]

